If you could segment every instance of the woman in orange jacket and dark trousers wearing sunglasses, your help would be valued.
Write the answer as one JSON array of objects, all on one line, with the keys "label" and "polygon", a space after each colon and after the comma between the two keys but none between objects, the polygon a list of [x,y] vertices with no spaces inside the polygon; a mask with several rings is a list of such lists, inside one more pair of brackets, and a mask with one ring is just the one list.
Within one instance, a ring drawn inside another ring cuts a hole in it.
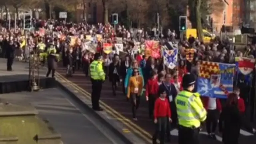
[{"label": "woman in orange jacket and dark trousers wearing sunglasses", "polygon": [[134,120],[137,120],[136,110],[140,105],[142,88],[143,78],[140,76],[138,68],[134,68],[127,87],[127,98],[131,99],[132,102],[132,116]]}]

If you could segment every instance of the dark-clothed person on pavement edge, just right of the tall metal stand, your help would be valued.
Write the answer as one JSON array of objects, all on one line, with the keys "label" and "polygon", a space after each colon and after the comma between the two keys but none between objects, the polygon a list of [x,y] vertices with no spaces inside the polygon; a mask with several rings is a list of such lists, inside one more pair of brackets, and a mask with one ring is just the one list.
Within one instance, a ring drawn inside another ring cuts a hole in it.
[{"label": "dark-clothed person on pavement edge, just right of the tall metal stand", "polygon": [[50,51],[50,54],[48,55],[48,71],[46,74],[46,77],[50,75],[50,72],[52,72],[52,78],[54,78],[55,70],[57,68],[58,64],[58,54],[55,54],[54,50]]}]

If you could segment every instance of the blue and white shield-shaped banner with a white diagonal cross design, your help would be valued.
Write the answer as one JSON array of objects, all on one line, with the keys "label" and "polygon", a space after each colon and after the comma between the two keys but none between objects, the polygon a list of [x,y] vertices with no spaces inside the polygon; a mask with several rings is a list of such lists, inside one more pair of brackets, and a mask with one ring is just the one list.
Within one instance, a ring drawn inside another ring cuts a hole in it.
[{"label": "blue and white shield-shaped banner with a white diagonal cross design", "polygon": [[164,50],[163,51],[164,64],[170,68],[174,69],[178,63],[178,49],[174,48],[173,50]]}]

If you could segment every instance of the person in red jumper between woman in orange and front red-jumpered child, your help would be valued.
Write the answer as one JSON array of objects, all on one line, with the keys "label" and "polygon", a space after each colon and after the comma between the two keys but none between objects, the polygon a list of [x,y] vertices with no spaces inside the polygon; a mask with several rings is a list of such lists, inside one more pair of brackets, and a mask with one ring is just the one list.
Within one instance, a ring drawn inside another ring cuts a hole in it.
[{"label": "person in red jumper between woman in orange and front red-jumpered child", "polygon": [[146,84],[146,101],[148,101],[149,118],[153,116],[154,103],[158,93],[157,73],[152,71],[152,76]]}]

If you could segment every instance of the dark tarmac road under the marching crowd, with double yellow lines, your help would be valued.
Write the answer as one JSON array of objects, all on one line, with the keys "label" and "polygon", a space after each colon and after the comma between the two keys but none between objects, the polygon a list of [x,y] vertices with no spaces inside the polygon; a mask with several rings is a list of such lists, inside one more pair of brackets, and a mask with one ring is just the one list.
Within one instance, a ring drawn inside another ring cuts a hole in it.
[{"label": "dark tarmac road under the marching crowd, with double yellow lines", "polygon": [[[61,66],[58,68],[57,80],[68,81],[72,87],[74,87],[78,92],[84,94],[88,97],[91,93],[91,82],[90,78],[86,77],[82,71],[76,71],[71,78],[65,78],[65,68]],[[103,84],[102,94],[101,94],[101,106],[107,112],[116,113],[118,118],[127,118],[129,121],[128,126],[130,130],[138,136],[144,138],[148,143],[151,142],[152,134],[154,133],[154,124],[152,120],[148,118],[148,105],[144,97],[141,98],[140,108],[137,111],[138,121],[132,120],[132,110],[130,102],[126,101],[126,97],[121,92],[121,87],[119,86],[117,95],[112,95],[112,88],[110,82],[106,81]],[[254,144],[256,141],[256,136],[251,133],[241,130],[240,132],[240,144]],[[171,131],[172,140],[170,144],[178,144],[177,136],[178,130],[174,129]],[[207,133],[205,131],[201,132],[200,139],[203,144],[221,144],[221,135],[217,134],[218,140],[210,140],[207,138]]]}]

